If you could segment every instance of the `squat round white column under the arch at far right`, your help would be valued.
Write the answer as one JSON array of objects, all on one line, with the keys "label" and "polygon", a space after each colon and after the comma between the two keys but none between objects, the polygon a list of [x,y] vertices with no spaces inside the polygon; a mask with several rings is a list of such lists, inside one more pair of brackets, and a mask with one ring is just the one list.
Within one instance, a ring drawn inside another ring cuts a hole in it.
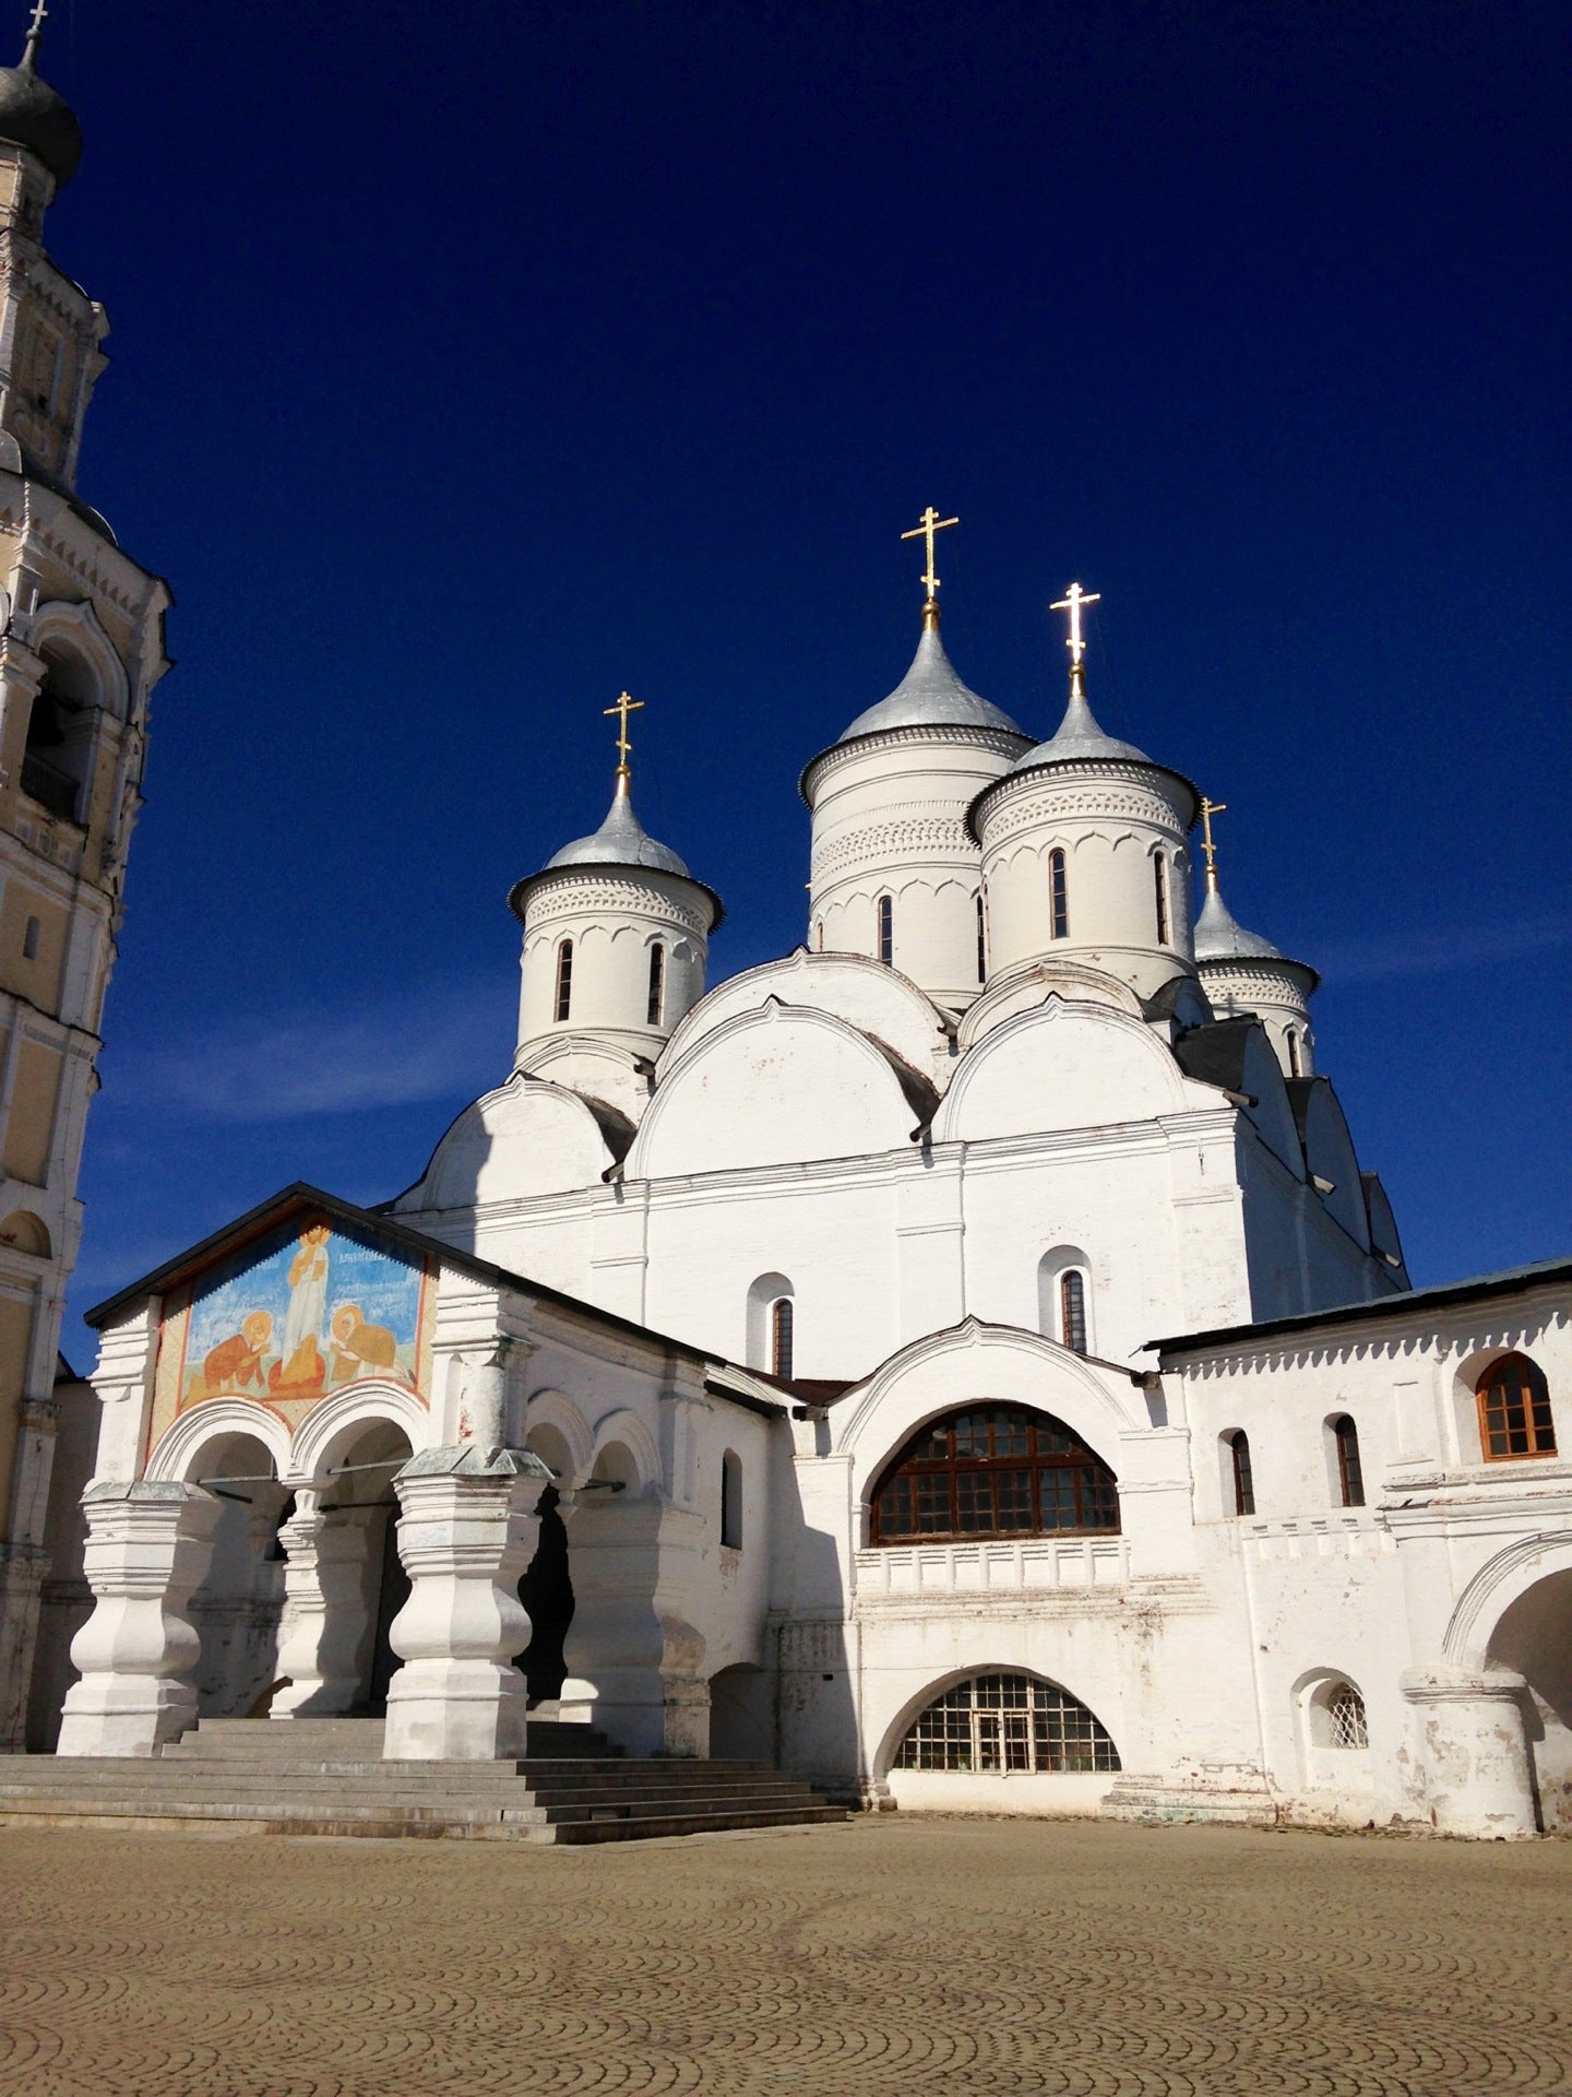
[{"label": "squat round white column under the arch at far right", "polygon": [[1524,1678],[1438,1665],[1411,1667],[1400,1686],[1415,1722],[1409,1791],[1429,1824],[1440,1835],[1536,1835]]}]

